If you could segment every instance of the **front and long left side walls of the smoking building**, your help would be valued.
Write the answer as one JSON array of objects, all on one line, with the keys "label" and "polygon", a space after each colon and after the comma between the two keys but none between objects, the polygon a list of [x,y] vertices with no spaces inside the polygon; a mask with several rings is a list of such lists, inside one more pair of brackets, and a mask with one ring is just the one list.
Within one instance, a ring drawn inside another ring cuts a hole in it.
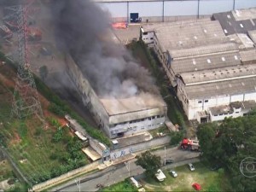
[{"label": "front and long left side walls of the smoking building", "polygon": [[[167,108],[153,108],[143,110],[140,113],[125,113],[119,115],[108,116],[105,108],[103,108],[102,102],[96,96],[95,91],[91,88],[90,83],[84,78],[84,75],[79,70],[79,67],[74,63],[70,56],[67,56],[67,72],[73,79],[74,84],[78,87],[84,105],[90,109],[90,112],[94,115],[98,125],[106,132],[108,137],[118,137],[117,133],[124,132],[125,136],[129,136],[138,132],[148,131],[160,127],[165,122],[165,116]],[[125,115],[128,115],[131,119],[125,119]],[[136,119],[142,116],[142,119]],[[154,118],[153,118],[154,117]],[[149,119],[150,118],[150,119]],[[121,119],[121,120],[120,120]],[[129,120],[129,122],[124,122]],[[112,121],[115,121],[115,125],[110,125]],[[131,122],[132,121],[132,122]],[[131,123],[130,123],[131,122]],[[111,126],[111,128],[109,128]],[[129,129],[127,129],[127,126]],[[115,133],[113,133],[115,131]]]}]

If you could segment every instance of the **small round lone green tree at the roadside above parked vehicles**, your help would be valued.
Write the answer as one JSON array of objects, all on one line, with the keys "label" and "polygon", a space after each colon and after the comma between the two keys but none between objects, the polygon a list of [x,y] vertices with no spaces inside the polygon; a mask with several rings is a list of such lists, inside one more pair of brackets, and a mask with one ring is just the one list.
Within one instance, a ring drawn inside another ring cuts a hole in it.
[{"label": "small round lone green tree at the roadside above parked vehicles", "polygon": [[142,166],[143,169],[146,170],[146,175],[152,177],[161,166],[160,156],[151,154],[150,151],[146,151],[137,156],[135,164],[137,166]]}]

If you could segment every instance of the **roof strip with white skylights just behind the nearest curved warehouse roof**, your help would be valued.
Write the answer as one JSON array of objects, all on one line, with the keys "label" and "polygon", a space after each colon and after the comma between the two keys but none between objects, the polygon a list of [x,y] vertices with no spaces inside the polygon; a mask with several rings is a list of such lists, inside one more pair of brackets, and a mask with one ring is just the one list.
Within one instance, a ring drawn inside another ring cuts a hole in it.
[{"label": "roof strip with white skylights just behind the nearest curved warehouse roof", "polygon": [[[218,49],[218,46],[216,46]],[[240,65],[240,55],[236,52],[226,52],[203,56],[194,56],[182,60],[174,60],[171,63],[172,71],[175,74],[196,72],[218,67],[229,67]]]}]

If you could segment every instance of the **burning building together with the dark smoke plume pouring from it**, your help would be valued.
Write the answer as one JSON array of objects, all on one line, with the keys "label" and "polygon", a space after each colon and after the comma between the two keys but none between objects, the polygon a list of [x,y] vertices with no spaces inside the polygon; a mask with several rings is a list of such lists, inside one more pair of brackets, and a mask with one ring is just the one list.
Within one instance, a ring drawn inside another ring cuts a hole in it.
[{"label": "burning building together with the dark smoke plume pouring from it", "polygon": [[52,8],[67,73],[108,137],[163,125],[166,103],[148,70],[113,42],[108,15],[90,1],[53,1]]}]

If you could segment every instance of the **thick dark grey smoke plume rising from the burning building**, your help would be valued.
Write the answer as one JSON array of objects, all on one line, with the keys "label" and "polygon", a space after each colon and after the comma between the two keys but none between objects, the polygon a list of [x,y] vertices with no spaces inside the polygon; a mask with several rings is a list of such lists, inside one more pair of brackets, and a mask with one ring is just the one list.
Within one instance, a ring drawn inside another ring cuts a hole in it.
[{"label": "thick dark grey smoke plume rising from the burning building", "polygon": [[148,70],[120,44],[107,39],[109,15],[90,0],[51,3],[59,47],[73,56],[99,96],[159,95]]}]

